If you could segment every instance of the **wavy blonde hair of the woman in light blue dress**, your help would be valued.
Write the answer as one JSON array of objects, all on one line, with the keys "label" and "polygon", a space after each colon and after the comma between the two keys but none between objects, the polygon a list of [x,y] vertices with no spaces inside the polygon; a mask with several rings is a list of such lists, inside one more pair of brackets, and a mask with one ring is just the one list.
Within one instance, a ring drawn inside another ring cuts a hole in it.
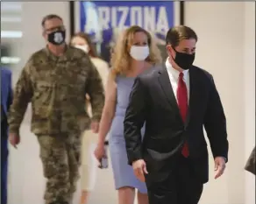
[{"label": "wavy blonde hair of the woman in light blue dress", "polygon": [[136,32],[144,32],[147,36],[149,55],[146,58],[146,61],[152,65],[161,62],[160,50],[153,42],[150,33],[147,32],[145,29],[139,27],[138,25],[133,25],[130,28],[126,29],[124,33],[120,34],[120,37],[117,39],[116,45],[112,49],[110,66],[111,73],[114,77],[116,77],[118,74],[125,75],[131,69],[131,56],[128,47],[132,46],[132,40]]}]

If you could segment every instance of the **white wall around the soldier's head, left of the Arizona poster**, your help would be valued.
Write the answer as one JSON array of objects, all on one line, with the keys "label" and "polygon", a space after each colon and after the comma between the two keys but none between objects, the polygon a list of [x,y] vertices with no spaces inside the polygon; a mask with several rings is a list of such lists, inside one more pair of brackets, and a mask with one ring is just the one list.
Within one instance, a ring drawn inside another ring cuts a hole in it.
[{"label": "white wall around the soldier's head, left of the Arizona poster", "polygon": [[68,2],[23,2],[22,3],[22,45],[19,47],[21,61],[20,69],[14,73],[14,82],[18,79],[18,74],[25,62],[35,51],[46,46],[42,37],[41,21],[48,14],[57,14],[63,18],[64,25],[67,28],[69,40],[69,5]]}]

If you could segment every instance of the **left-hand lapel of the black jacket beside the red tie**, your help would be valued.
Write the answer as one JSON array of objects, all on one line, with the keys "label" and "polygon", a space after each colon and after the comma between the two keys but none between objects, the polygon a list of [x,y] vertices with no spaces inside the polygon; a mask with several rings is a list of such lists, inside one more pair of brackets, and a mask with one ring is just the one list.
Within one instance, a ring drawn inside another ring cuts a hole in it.
[{"label": "left-hand lapel of the black jacket beside the red tie", "polygon": [[167,101],[169,102],[169,104],[171,106],[171,109],[181,119],[178,103],[177,103],[175,95],[174,95],[174,89],[170,82],[166,67],[163,66],[162,69],[160,70],[159,74],[160,75],[159,75],[158,79],[160,82],[160,87],[161,87],[162,91],[164,92],[164,94],[167,98]]}]

